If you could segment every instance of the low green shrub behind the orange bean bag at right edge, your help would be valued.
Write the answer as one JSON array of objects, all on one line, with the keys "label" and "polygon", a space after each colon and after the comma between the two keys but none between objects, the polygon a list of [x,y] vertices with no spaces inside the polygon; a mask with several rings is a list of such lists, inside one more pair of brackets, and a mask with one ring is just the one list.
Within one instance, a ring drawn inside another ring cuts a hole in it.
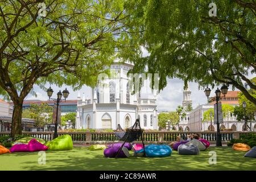
[{"label": "low green shrub behind the orange bean bag at right edge", "polygon": [[241,134],[239,139],[232,139],[228,142],[228,146],[233,146],[234,143],[245,143],[250,147],[256,146],[256,134]]}]

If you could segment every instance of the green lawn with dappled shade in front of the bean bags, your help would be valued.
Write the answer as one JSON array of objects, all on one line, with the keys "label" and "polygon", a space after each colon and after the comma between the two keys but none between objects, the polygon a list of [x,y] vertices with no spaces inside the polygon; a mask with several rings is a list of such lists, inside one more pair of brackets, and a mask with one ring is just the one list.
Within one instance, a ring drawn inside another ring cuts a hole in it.
[{"label": "green lawn with dappled shade in front of the bean bags", "polygon": [[[217,164],[209,165],[209,151],[217,152]],[[131,152],[132,154],[132,152]],[[74,147],[72,151],[46,151],[46,164],[38,164],[38,152],[0,155],[0,170],[256,170],[256,159],[231,147],[210,147],[200,155],[167,158],[104,158],[103,151]]]}]

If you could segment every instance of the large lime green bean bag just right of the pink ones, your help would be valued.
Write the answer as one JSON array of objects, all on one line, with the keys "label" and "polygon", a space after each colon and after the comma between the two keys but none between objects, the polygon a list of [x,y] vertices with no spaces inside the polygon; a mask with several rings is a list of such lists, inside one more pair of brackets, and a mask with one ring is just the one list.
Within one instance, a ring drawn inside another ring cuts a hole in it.
[{"label": "large lime green bean bag just right of the pink ones", "polygon": [[70,135],[61,135],[46,143],[48,150],[72,150],[73,142]]}]

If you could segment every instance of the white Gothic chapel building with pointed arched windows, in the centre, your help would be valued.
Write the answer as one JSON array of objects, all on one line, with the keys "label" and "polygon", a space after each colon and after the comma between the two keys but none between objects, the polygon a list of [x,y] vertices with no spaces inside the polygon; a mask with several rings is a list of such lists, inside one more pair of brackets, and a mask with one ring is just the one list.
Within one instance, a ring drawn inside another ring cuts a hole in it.
[{"label": "white Gothic chapel building with pointed arched windows, in the centre", "polygon": [[[91,88],[90,98],[77,97],[76,129],[123,129],[134,124],[136,118],[143,129],[158,129],[156,94],[131,94],[127,72],[133,64],[118,61],[110,67],[118,76],[106,78]],[[81,90],[80,90],[81,91]]]}]

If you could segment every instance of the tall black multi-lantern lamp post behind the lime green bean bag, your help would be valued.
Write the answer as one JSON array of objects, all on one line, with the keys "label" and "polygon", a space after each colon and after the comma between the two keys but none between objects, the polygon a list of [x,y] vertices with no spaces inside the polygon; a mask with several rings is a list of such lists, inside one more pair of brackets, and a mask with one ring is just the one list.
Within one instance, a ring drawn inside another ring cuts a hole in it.
[{"label": "tall black multi-lantern lamp post behind the lime green bean bag", "polygon": [[[69,92],[67,90],[67,88],[65,90],[63,90],[63,92],[61,93],[61,91],[59,91],[57,93],[57,98],[51,98],[53,93],[53,90],[51,88],[51,86],[47,89],[47,95],[49,97],[49,100],[53,100],[56,104],[57,104],[57,110],[56,110],[56,121],[55,121],[55,128],[54,128],[54,134],[53,134],[53,139],[57,138],[57,127],[58,127],[58,110],[59,110],[59,104],[61,101],[65,100],[66,98],[68,98]],[[61,97],[64,97],[64,99],[61,99]]]}]

